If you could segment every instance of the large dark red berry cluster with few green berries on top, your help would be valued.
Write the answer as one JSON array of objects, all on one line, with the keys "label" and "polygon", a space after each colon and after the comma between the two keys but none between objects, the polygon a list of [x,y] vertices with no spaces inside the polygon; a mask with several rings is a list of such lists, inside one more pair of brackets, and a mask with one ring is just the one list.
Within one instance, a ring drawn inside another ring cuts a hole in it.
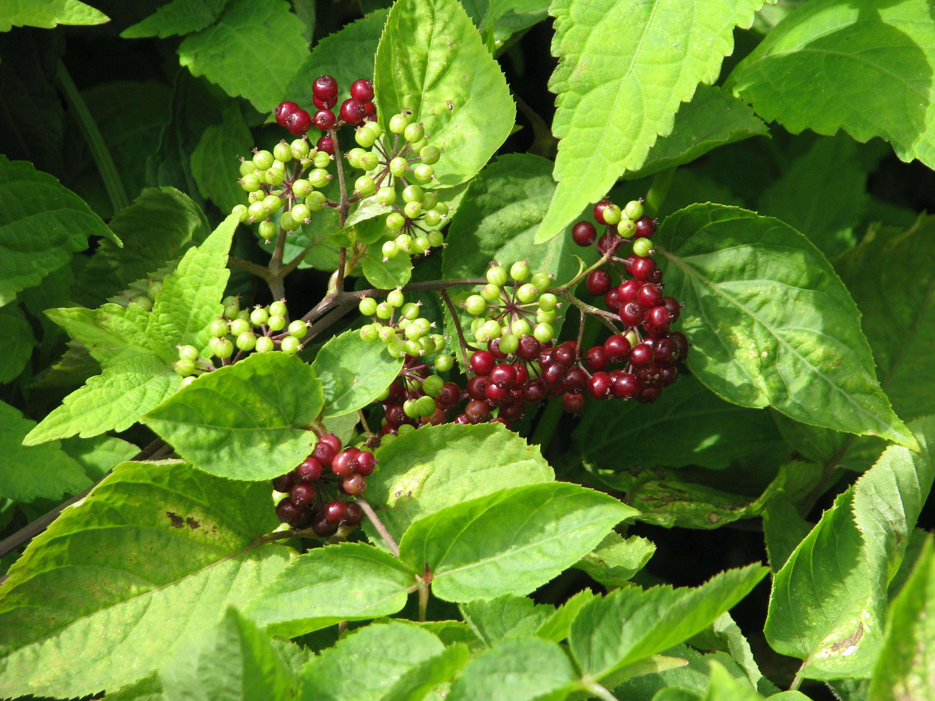
[{"label": "large dark red berry cluster with few green berries on top", "polygon": [[[623,334],[614,334],[602,346],[584,353],[584,365],[592,371],[584,387],[595,399],[620,397],[641,403],[654,402],[663,387],[678,379],[676,365],[688,355],[688,340],[682,333],[669,331],[682,311],[675,297],[663,293],[662,271],[655,265],[651,239],[656,222],[642,215],[642,202],[630,202],[621,210],[609,200],[598,202],[594,218],[606,226],[597,240],[591,222],[578,222],[571,236],[579,246],[596,246],[608,259],[604,268],[587,277],[590,293],[604,295],[611,312],[623,322]],[[620,258],[616,254],[625,243],[634,252]],[[615,273],[619,282],[614,281]],[[608,368],[613,364],[624,365]],[[584,370],[584,365],[579,366]],[[546,372],[543,366],[543,374]],[[563,404],[569,411],[583,406],[581,396],[569,391]]]}]

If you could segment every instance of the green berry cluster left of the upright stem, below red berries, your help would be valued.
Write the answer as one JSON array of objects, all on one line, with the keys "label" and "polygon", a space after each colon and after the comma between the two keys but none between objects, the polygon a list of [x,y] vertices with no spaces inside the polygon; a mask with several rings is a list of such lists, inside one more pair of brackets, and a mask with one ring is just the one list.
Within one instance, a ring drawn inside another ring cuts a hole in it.
[{"label": "green berry cluster left of the upright stem, below red berries", "polygon": [[237,205],[233,211],[241,222],[259,222],[257,233],[268,241],[277,231],[270,218],[284,207],[280,226],[295,231],[309,222],[312,212],[324,208],[327,199],[320,189],[333,178],[327,171],[332,160],[328,152],[309,148],[306,136],[291,144],[281,141],[272,153],[254,149],[252,160],[241,160],[237,180],[248,193],[248,204]]}]

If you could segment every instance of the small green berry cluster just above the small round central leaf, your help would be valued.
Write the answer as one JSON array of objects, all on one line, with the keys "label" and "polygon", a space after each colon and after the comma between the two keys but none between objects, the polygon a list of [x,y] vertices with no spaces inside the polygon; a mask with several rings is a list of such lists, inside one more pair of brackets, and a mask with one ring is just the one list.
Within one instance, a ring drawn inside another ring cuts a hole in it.
[{"label": "small green berry cluster just above the small round central leaf", "polygon": [[435,324],[419,316],[420,303],[407,302],[398,288],[388,293],[383,302],[364,297],[359,309],[364,316],[373,317],[373,322],[361,326],[360,337],[365,341],[381,340],[394,358],[435,355],[434,363],[439,370],[452,368],[452,356],[442,352],[447,343],[445,336],[431,333]]}]

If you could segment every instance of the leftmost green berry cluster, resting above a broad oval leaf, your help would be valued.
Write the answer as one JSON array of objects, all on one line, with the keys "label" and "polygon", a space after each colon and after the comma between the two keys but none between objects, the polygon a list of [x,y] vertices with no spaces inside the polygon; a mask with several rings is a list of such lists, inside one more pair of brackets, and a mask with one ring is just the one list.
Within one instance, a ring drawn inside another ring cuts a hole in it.
[{"label": "leftmost green berry cluster, resting above a broad oval leaf", "polygon": [[[226,297],[223,316],[211,322],[208,343],[209,355],[194,346],[180,346],[175,371],[183,378],[183,386],[205,372],[216,369],[214,358],[221,365],[236,362],[245,353],[268,353],[277,348],[286,353],[297,353],[301,339],[309,333],[306,322],[296,319],[286,325],[285,301],[273,302],[266,307],[257,305],[252,310],[241,309],[238,297]],[[237,355],[234,361],[231,356]],[[208,357],[206,357],[206,355]]]}]

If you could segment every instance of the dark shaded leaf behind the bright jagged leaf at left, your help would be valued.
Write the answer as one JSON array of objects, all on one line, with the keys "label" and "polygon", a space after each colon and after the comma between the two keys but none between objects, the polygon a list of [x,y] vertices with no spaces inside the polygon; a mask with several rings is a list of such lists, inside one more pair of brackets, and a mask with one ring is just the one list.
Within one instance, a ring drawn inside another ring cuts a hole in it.
[{"label": "dark shaded leaf behind the bright jagged leaf at left", "polygon": [[179,258],[210,232],[201,207],[175,188],[147,188],[110,220],[123,248],[101,241],[78,275],[76,300],[97,307],[137,279]]}]

